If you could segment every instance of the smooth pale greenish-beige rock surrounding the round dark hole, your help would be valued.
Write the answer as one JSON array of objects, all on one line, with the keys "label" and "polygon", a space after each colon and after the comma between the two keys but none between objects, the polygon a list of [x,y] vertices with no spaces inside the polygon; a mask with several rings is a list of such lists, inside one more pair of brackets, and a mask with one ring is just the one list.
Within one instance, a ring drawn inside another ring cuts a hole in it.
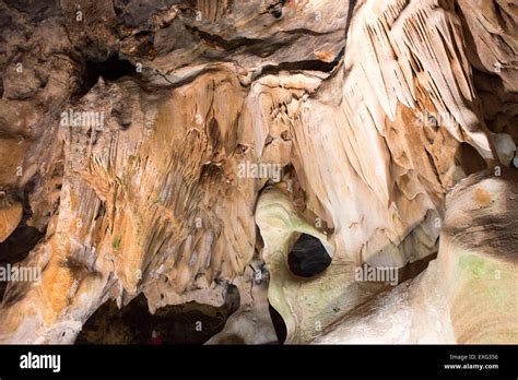
[{"label": "smooth pale greenish-beige rock surrounding the round dark hole", "polygon": [[315,277],[302,278],[291,273],[287,254],[301,234],[318,238],[331,257],[334,249],[327,231],[297,213],[282,186],[262,192],[256,222],[264,241],[261,254],[270,271],[268,298],[286,324],[286,344],[310,342],[339,316],[385,287],[355,283],[354,264],[339,258],[333,258],[332,264]]}]

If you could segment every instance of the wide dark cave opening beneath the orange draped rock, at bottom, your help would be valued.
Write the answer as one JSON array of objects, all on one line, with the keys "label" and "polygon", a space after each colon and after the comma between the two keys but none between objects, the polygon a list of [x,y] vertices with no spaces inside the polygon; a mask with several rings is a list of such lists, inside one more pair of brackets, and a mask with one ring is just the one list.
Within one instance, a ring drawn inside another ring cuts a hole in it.
[{"label": "wide dark cave opening beneath the orange draped rock, at bottom", "polygon": [[143,294],[120,310],[115,301],[108,301],[85,322],[75,343],[150,344],[155,330],[164,344],[203,344],[223,330],[239,307],[238,298],[237,287],[229,285],[221,307],[188,302],[165,306],[154,314]]}]

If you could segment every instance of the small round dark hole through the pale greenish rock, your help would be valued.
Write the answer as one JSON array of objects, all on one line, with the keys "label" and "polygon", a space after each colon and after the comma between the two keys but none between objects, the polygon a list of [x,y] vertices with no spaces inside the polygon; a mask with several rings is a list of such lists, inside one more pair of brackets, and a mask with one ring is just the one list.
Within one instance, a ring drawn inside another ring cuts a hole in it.
[{"label": "small round dark hole through the pale greenish rock", "polygon": [[303,234],[287,256],[287,264],[293,274],[313,277],[331,264],[331,257],[319,239]]}]

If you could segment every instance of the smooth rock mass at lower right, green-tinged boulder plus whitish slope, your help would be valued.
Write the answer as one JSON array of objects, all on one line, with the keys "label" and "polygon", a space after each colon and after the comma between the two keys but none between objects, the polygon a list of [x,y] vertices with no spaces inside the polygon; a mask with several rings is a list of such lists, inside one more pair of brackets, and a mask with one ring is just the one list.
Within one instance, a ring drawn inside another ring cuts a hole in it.
[{"label": "smooth rock mass at lower right, green-tinged boulder plus whitish slope", "polygon": [[448,194],[437,260],[315,343],[509,344],[518,332],[518,174],[492,170]]}]

